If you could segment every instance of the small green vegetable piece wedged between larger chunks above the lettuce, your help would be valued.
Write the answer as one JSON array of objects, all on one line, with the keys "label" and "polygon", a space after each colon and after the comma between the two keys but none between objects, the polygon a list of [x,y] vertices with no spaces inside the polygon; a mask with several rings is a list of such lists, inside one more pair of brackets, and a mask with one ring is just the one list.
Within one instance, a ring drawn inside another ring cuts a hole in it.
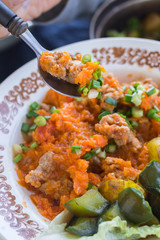
[{"label": "small green vegetable piece wedged between larger chunks above the lettuce", "polygon": [[115,201],[110,205],[110,207],[106,207],[103,213],[100,215],[98,219],[98,224],[104,221],[111,221],[113,218],[119,216],[122,220],[125,220],[124,216],[120,212],[120,208],[118,206],[118,201]]}]

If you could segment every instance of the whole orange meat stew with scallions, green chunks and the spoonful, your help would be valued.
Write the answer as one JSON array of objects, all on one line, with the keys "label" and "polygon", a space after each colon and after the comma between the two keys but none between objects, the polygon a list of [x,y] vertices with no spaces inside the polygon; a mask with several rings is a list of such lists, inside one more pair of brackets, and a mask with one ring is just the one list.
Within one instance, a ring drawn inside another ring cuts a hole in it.
[{"label": "whole orange meat stew with scallions, green chunks and the spoonful", "polygon": [[73,217],[65,231],[78,236],[117,216],[132,227],[158,225],[158,86],[151,79],[120,84],[90,55],[44,53],[41,60],[51,74],[77,81],[82,98],[50,89],[30,104],[24,141],[13,145],[19,183],[40,214],[52,220],[67,208]]}]

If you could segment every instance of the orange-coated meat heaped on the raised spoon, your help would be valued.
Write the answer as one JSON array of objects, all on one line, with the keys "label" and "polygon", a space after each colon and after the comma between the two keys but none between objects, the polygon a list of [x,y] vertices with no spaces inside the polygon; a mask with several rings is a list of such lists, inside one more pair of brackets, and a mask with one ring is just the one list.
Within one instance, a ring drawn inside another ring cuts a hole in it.
[{"label": "orange-coated meat heaped on the raised spoon", "polygon": [[43,71],[72,84],[82,71],[82,65],[81,61],[73,60],[67,52],[43,52],[40,56],[40,66]]}]

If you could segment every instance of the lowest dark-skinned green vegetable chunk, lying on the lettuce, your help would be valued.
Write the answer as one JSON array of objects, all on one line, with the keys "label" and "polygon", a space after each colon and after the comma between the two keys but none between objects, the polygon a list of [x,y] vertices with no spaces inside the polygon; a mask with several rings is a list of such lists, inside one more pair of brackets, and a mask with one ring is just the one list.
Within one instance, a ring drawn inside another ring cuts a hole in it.
[{"label": "lowest dark-skinned green vegetable chunk, lying on the lettuce", "polygon": [[98,231],[97,218],[73,217],[65,230],[78,236],[92,236]]}]

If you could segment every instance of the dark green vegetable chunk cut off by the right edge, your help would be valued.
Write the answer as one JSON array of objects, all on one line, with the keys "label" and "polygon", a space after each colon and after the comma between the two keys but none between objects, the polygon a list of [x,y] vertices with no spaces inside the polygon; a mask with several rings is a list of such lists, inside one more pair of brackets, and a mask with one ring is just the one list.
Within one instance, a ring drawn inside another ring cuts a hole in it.
[{"label": "dark green vegetable chunk cut off by the right edge", "polygon": [[150,162],[140,173],[138,181],[147,192],[160,195],[160,163]]}]

